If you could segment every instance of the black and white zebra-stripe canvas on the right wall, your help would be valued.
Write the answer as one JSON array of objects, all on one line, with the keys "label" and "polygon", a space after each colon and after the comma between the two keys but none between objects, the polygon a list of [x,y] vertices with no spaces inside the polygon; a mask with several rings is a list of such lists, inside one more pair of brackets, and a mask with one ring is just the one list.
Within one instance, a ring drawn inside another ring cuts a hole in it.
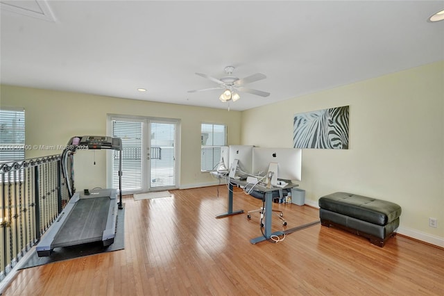
[{"label": "black and white zebra-stripe canvas on the right wall", "polygon": [[348,149],[348,107],[295,114],[293,147]]}]

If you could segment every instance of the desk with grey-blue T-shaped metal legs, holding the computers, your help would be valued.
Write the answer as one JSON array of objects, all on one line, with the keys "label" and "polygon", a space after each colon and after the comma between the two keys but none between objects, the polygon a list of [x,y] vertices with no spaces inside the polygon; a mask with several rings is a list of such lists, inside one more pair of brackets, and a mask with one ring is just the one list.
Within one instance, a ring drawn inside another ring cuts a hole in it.
[{"label": "desk with grey-blue T-shaped metal legs, holding the computers", "polygon": [[[236,210],[233,211],[233,185],[238,186],[246,186],[246,181],[241,181],[237,179],[231,179],[229,176],[223,176],[218,173],[214,173],[218,178],[226,179],[228,180],[229,190],[228,190],[228,209],[226,213],[221,213],[219,215],[216,215],[216,218],[222,218],[222,217],[228,217],[230,215],[237,215],[244,213],[244,210]],[[273,206],[273,191],[280,190],[280,189],[289,189],[293,187],[297,187],[298,184],[289,183],[285,187],[273,187],[273,188],[266,188],[264,186],[255,186],[253,187],[253,190],[260,191],[265,193],[265,224],[264,224],[264,236],[259,236],[257,238],[252,238],[250,242],[254,245],[257,242],[262,242],[264,240],[268,240],[271,238],[271,236],[282,236],[284,235],[284,231],[276,231],[271,232],[271,217],[272,217],[272,211],[271,208]]]}]

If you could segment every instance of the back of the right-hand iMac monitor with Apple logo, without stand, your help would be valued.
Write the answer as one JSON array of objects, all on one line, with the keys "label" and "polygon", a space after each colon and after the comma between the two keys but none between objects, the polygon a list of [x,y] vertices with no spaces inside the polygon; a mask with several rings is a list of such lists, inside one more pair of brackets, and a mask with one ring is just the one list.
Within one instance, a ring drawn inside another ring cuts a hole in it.
[{"label": "back of the right-hand iMac monitor with Apple logo, without stand", "polygon": [[302,149],[254,147],[253,174],[264,176],[270,163],[278,163],[278,179],[301,181]]}]

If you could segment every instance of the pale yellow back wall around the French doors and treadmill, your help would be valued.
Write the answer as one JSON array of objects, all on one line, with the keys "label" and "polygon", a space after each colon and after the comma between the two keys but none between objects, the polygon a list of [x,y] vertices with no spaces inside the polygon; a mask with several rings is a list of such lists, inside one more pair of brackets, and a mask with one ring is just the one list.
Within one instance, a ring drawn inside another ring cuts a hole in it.
[{"label": "pale yellow back wall around the French doors and treadmill", "polygon": [[[233,110],[162,104],[92,94],[1,85],[0,106],[25,108],[26,145],[66,145],[73,135],[105,135],[108,114],[179,119],[180,187],[207,186],[216,181],[200,172],[200,124],[228,125],[228,144],[239,144],[241,113]],[[26,158],[61,151],[31,149]],[[76,158],[76,188],[106,186],[105,151],[82,151]],[[93,165],[94,158],[96,165]]]}]

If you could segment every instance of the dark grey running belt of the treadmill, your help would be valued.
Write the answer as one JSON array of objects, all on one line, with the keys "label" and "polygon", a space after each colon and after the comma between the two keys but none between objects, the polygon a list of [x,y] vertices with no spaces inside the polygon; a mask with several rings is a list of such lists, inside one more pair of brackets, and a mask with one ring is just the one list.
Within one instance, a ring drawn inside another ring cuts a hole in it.
[{"label": "dark grey running belt of the treadmill", "polygon": [[79,199],[51,247],[66,247],[101,240],[110,202],[110,197]]}]

